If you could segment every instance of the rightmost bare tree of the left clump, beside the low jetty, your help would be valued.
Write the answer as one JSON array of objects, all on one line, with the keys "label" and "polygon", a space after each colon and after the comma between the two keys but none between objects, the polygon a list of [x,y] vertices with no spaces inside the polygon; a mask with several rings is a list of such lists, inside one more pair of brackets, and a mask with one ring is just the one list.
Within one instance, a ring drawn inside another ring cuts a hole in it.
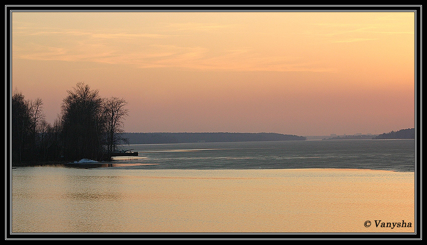
[{"label": "rightmost bare tree of the left clump, beside the low jetty", "polygon": [[121,137],[124,133],[123,120],[129,110],[125,108],[128,103],[123,98],[111,97],[104,102],[104,117],[106,123],[107,152],[109,155],[116,150],[120,142],[126,142]]}]

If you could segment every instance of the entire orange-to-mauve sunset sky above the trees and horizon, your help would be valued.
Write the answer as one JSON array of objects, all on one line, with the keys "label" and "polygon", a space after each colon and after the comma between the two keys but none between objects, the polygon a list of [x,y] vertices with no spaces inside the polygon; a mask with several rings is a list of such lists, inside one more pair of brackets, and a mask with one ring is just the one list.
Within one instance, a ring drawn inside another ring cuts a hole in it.
[{"label": "entire orange-to-mauve sunset sky above the trees and horizon", "polygon": [[77,82],[126,132],[382,134],[414,127],[413,12],[14,12],[12,92],[46,120]]}]

